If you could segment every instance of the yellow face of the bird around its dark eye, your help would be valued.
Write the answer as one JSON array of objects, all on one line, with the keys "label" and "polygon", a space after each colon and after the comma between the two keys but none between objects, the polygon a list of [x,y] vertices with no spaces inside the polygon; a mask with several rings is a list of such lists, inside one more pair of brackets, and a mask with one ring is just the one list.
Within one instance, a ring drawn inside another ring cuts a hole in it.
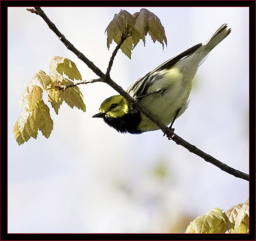
[{"label": "yellow face of the bird around its dark eye", "polygon": [[128,105],[122,96],[111,96],[101,104],[99,110],[107,117],[118,118],[128,112]]}]

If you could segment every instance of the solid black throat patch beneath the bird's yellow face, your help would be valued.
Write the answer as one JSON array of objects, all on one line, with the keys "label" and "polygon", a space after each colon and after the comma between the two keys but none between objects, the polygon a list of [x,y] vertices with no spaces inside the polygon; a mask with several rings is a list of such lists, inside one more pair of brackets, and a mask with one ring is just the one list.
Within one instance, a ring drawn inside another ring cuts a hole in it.
[{"label": "solid black throat patch beneath the bird's yellow face", "polygon": [[140,134],[142,132],[137,129],[141,122],[141,114],[137,111],[124,114],[124,116],[118,118],[104,117],[103,120],[121,133]]}]

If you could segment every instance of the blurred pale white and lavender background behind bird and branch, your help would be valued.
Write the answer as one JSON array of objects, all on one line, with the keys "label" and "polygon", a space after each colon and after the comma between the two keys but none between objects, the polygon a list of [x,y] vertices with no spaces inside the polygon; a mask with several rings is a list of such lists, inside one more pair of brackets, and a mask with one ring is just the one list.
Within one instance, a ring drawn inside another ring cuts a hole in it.
[{"label": "blurred pale white and lavender background behind bird and branch", "polygon": [[[124,7],[131,14],[142,7]],[[115,48],[104,31],[120,7],[43,7],[65,37],[106,72]],[[159,64],[204,42],[224,23],[232,31],[199,67],[190,104],[176,134],[202,151],[249,173],[249,8],[147,7],[165,28],[167,48],[146,37],[132,59],[119,52],[111,78],[124,89]],[[184,232],[189,221],[249,197],[236,178],[168,141],[161,131],[120,134],[91,118],[117,94],[104,83],[81,86],[86,112],[51,109],[46,139],[18,145],[12,129],[19,99],[50,59],[67,57],[83,79],[96,75],[59,41],[41,17],[8,8],[8,232]],[[50,107],[45,96],[45,103]]]}]

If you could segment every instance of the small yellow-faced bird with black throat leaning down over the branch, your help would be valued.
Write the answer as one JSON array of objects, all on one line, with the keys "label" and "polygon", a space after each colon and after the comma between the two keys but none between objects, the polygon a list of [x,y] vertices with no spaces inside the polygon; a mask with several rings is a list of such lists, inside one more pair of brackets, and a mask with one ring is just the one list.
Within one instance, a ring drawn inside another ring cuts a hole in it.
[{"label": "small yellow-faced bird with black throat leaning down over the branch", "polygon": [[[192,80],[198,66],[230,31],[227,24],[223,24],[204,44],[193,46],[139,78],[128,88],[128,94],[163,124],[168,125],[177,112],[178,118],[186,110]],[[109,126],[119,132],[139,134],[159,129],[121,95],[106,99],[99,110],[93,117],[103,118]]]}]

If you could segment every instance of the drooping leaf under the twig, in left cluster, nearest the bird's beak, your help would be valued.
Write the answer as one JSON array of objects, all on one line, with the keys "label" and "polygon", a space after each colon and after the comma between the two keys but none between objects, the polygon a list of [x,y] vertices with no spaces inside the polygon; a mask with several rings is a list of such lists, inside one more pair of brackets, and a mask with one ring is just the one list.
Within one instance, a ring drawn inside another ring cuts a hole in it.
[{"label": "drooping leaf under the twig, in left cluster, nearest the bird's beak", "polygon": [[[62,85],[70,85],[71,83],[72,82],[68,79],[63,78]],[[85,112],[83,95],[77,86],[63,90],[63,99],[72,109],[74,106],[76,106],[78,109],[81,109]]]}]

